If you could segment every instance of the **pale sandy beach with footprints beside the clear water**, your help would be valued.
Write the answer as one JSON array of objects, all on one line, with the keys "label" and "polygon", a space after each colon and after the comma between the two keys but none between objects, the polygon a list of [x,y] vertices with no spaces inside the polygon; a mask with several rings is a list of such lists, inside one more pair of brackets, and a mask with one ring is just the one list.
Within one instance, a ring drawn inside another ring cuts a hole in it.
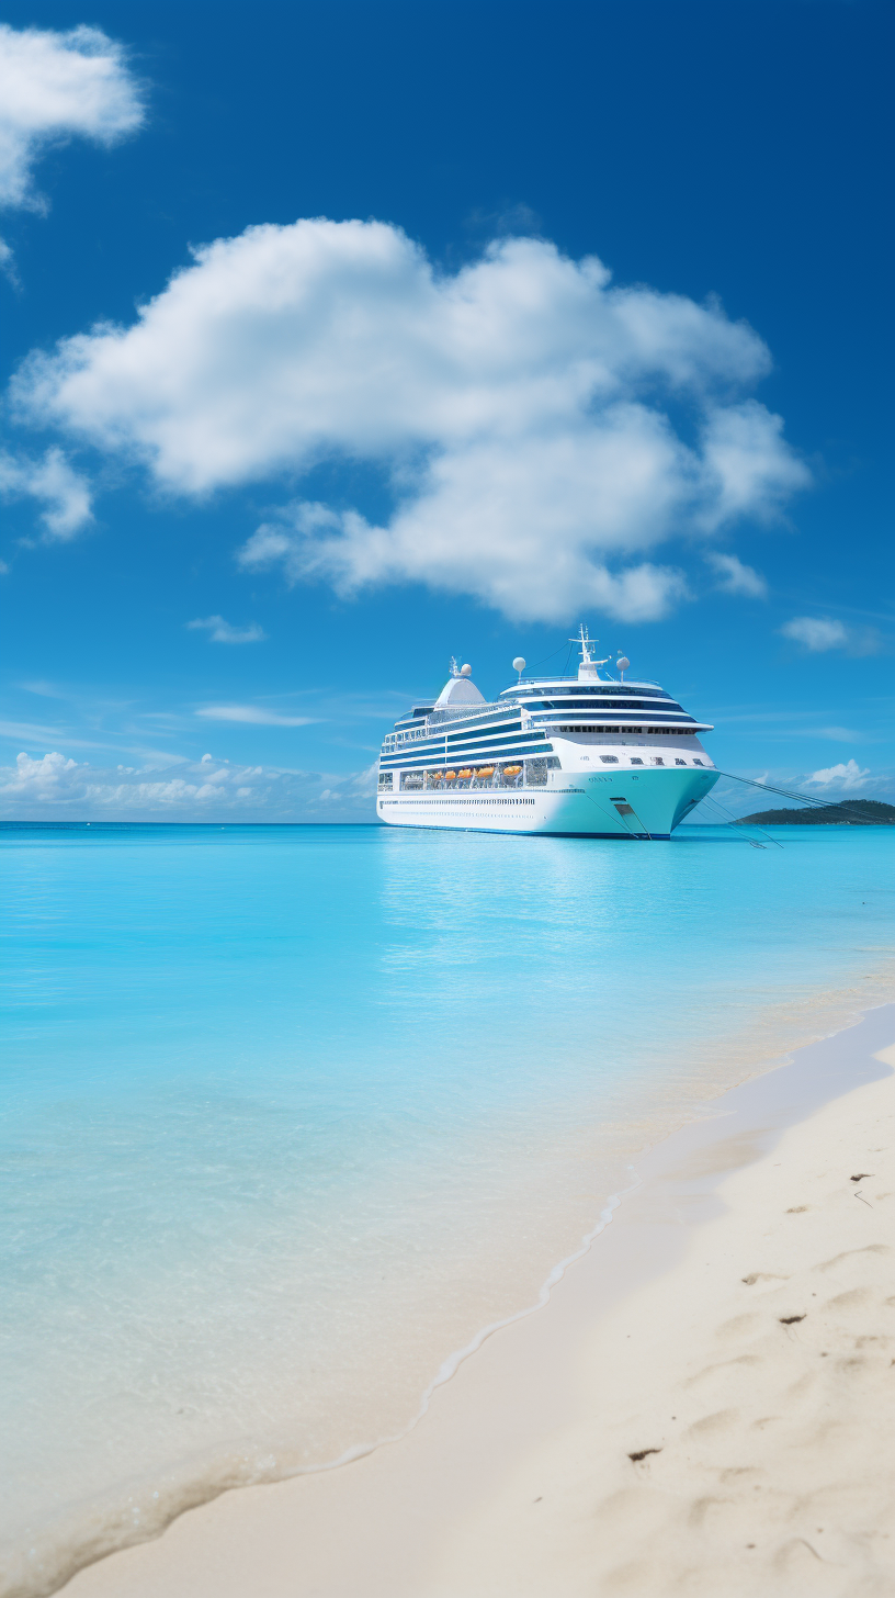
[{"label": "pale sandy beach with footprints beside the clear water", "polygon": [[893,1043],[887,1005],[638,1160],[400,1443],[227,1493],[69,1598],[892,1592]]}]

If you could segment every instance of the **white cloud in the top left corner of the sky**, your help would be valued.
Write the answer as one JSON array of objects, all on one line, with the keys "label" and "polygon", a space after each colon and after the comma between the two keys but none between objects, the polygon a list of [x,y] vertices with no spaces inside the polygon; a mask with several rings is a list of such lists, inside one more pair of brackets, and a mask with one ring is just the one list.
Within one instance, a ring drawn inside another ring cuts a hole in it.
[{"label": "white cloud in the top left corner of the sky", "polygon": [[32,168],[51,141],[115,144],[144,120],[125,50],[99,27],[0,24],[0,205],[42,208]]}]

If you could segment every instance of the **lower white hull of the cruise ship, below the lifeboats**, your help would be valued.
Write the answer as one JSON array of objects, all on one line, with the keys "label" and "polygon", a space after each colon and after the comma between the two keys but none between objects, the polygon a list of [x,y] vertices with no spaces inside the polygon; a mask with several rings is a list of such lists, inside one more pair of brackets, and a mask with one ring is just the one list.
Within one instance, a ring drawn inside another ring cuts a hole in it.
[{"label": "lower white hull of the cruise ship, below the lifeboats", "polygon": [[390,826],[470,833],[543,833],[574,837],[663,839],[714,788],[716,770],[639,773],[550,772],[543,788],[438,788],[379,794]]}]

